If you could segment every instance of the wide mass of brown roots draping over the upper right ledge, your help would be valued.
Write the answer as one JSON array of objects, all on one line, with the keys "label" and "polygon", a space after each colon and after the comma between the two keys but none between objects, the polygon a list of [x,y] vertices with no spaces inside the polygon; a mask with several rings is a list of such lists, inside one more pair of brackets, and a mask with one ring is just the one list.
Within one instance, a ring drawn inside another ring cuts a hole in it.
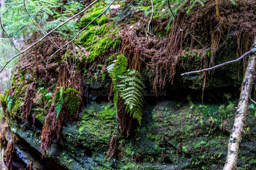
[{"label": "wide mass of brown roots draping over the upper right ledge", "polygon": [[[216,4],[216,2],[218,4]],[[154,74],[153,86],[163,88],[166,81],[173,83],[177,67],[183,60],[187,52],[197,54],[197,60],[201,62],[201,67],[207,68],[215,65],[215,53],[220,42],[225,43],[226,35],[236,37],[238,44],[237,56],[247,52],[252,39],[256,34],[255,1],[236,1],[237,5],[232,5],[230,1],[207,1],[204,6],[196,4],[187,14],[186,9],[191,4],[186,4],[184,10],[179,11],[176,18],[180,26],[185,28],[196,37],[205,48],[209,49],[208,57],[206,50],[185,30],[181,29],[176,22],[170,24],[169,30],[165,31],[167,22],[165,20],[153,19],[151,33],[156,34],[164,31],[166,36],[160,39],[152,36],[148,42],[144,33],[145,26],[134,24],[124,27],[121,31],[122,48],[121,54],[125,55],[129,61],[129,68],[140,70],[141,65],[146,63],[148,70]],[[216,5],[219,7],[216,15]],[[168,9],[169,10],[169,9]],[[147,23],[147,19],[141,12],[134,11],[135,16],[140,17],[140,24]],[[136,31],[135,31],[136,30]],[[180,60],[181,59],[181,60]],[[191,60],[190,57],[186,58]],[[200,79],[207,78],[206,74]],[[205,83],[204,83],[205,84]]]}]

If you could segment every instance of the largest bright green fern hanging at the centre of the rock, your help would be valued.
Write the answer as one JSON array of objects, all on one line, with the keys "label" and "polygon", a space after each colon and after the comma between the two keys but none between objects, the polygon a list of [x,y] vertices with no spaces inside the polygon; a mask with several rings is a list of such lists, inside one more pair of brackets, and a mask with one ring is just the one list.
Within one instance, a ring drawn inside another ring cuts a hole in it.
[{"label": "largest bright green fern hanging at the centre of the rock", "polygon": [[114,84],[114,107],[117,112],[117,97],[120,92],[120,97],[124,99],[126,105],[125,110],[134,119],[140,123],[143,115],[144,100],[141,91],[145,87],[142,83],[142,78],[139,71],[126,70],[127,58],[123,55],[118,55],[116,60],[107,67],[107,71]]}]

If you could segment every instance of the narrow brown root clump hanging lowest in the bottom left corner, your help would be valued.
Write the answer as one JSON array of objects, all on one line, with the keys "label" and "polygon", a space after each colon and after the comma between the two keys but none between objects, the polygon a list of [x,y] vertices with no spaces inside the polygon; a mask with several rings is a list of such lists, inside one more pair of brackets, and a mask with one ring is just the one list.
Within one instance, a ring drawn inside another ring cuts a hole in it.
[{"label": "narrow brown root clump hanging lowest in the bottom left corner", "polygon": [[12,170],[12,161],[13,161],[13,151],[14,151],[14,135],[12,139],[8,142],[5,150],[5,165],[7,169]]}]

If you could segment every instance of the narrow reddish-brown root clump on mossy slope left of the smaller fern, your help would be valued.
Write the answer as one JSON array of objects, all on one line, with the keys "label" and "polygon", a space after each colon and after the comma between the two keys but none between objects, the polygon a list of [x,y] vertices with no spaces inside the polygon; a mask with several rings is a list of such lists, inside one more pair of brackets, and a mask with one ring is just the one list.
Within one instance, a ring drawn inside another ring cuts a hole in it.
[{"label": "narrow reddish-brown root clump on mossy slope left of the smaller fern", "polygon": [[28,117],[30,115],[33,99],[35,98],[35,91],[36,91],[36,82],[31,83],[26,92],[26,97],[24,99],[24,104],[22,107],[22,121],[28,121]]}]

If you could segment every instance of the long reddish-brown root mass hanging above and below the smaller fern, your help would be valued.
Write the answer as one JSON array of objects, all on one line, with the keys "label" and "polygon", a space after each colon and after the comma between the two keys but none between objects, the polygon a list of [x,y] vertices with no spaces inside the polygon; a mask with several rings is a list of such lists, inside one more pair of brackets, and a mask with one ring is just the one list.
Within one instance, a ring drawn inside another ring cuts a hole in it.
[{"label": "long reddish-brown root mass hanging above and below the smaller fern", "polygon": [[[57,86],[62,86],[67,88],[74,88],[77,91],[81,92],[81,80],[79,78],[80,74],[75,72],[76,61],[64,60],[64,62],[60,65],[59,68],[59,77],[57,81]],[[58,88],[56,88],[53,93],[53,97],[56,96],[56,92],[58,92]],[[63,94],[63,99],[65,99],[65,94]],[[42,156],[46,156],[48,154],[48,149],[51,148],[51,144],[53,142],[54,137],[57,139],[60,138],[61,130],[63,128],[63,123],[65,120],[72,120],[78,116],[78,111],[75,114],[69,115],[69,110],[67,109],[65,103],[63,104],[62,110],[57,117],[56,105],[55,101],[53,101],[51,107],[49,108],[49,113],[45,118],[44,126],[41,135],[41,150]]]}]

